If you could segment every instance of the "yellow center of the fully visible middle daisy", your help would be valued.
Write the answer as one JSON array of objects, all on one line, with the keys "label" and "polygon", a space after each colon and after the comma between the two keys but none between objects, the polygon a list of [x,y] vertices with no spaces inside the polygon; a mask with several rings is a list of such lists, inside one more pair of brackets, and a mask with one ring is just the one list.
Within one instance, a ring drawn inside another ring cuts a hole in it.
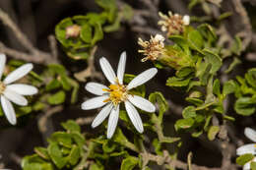
[{"label": "yellow center of the fully visible middle daisy", "polygon": [[128,96],[128,90],[125,85],[109,85],[109,89],[103,88],[104,91],[109,92],[109,98],[105,99],[104,102],[111,101],[115,106],[120,102],[125,101]]}]

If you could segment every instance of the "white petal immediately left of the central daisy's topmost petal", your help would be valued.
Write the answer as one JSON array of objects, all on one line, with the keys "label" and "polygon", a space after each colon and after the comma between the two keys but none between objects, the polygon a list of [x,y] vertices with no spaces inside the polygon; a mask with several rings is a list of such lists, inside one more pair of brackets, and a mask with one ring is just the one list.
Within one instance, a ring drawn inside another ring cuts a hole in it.
[{"label": "white petal immediately left of the central daisy's topmost petal", "polygon": [[105,78],[109,81],[109,83],[115,84],[116,76],[109,62],[104,57],[102,57],[99,59],[99,65]]}]

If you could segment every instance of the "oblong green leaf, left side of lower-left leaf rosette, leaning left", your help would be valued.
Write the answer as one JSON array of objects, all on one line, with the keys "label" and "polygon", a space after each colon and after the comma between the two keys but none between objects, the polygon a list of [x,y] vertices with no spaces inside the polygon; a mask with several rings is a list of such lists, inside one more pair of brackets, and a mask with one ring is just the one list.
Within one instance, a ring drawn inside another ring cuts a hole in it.
[{"label": "oblong green leaf, left side of lower-left leaf rosette, leaning left", "polygon": [[52,161],[59,169],[63,168],[67,164],[67,159],[62,156],[61,150],[57,142],[50,142],[47,150]]}]

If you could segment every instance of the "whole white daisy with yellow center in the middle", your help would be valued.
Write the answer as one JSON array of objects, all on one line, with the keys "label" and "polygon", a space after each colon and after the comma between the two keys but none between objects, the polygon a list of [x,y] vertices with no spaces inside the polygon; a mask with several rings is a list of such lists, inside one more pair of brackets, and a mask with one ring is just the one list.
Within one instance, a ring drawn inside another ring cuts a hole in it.
[{"label": "whole white daisy with yellow center in the middle", "polygon": [[116,76],[109,62],[104,57],[100,58],[101,70],[110,85],[108,87],[97,83],[88,83],[86,85],[86,89],[89,92],[98,96],[82,103],[82,109],[91,110],[104,106],[97,114],[92,127],[96,128],[110,114],[107,124],[107,139],[113,136],[117,126],[120,103],[124,102],[128,116],[139,133],[143,133],[144,128],[141,117],[134,106],[147,112],[156,111],[154,104],[141,96],[130,94],[129,90],[150,81],[158,73],[158,70],[156,68],[146,70],[134,78],[128,85],[123,85],[125,63],[126,52],[123,52],[118,63]]}]

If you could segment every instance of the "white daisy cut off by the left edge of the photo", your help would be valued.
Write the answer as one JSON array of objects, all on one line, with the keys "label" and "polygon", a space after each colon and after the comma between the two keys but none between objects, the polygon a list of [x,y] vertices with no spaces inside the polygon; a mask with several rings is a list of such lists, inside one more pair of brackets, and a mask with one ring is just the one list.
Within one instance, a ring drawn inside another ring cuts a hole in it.
[{"label": "white daisy cut off by the left edge of the photo", "polygon": [[[4,68],[6,63],[5,54],[0,54],[0,80],[2,78]],[[32,64],[25,64],[12,73],[10,73],[4,81],[0,81],[0,100],[1,106],[4,111],[4,114],[7,120],[15,125],[16,114],[14,107],[11,101],[20,106],[28,105],[28,100],[24,97],[24,95],[32,95],[37,93],[37,88],[32,85],[24,85],[24,84],[12,84],[15,81],[25,77],[32,70]]]}]

